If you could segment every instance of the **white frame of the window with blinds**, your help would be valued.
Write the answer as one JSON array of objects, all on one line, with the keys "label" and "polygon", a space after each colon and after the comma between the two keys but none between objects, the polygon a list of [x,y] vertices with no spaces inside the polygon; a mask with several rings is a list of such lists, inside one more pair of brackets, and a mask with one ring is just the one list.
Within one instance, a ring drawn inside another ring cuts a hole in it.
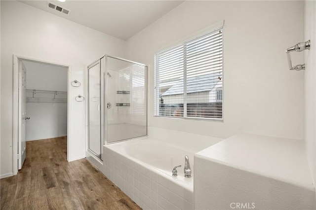
[{"label": "white frame of the window with blinds", "polygon": [[[208,27],[198,33],[196,33],[195,35],[191,36],[191,38],[186,38],[186,39],[183,39],[181,41],[178,41],[177,43],[175,44],[172,44],[170,45],[169,47],[167,48],[164,48],[162,50],[159,50],[158,52],[156,52],[154,54],[154,117],[162,117],[162,118],[177,118],[177,119],[193,119],[193,120],[206,120],[206,121],[220,121],[220,122],[223,122],[224,121],[224,79],[222,80],[222,87],[220,87],[221,89],[221,96],[222,96],[222,100],[221,101],[218,101],[217,100],[217,89],[215,89],[215,103],[217,102],[222,102],[222,117],[221,118],[214,118],[214,117],[192,117],[192,116],[187,116],[187,95],[188,95],[188,92],[187,92],[187,72],[186,72],[186,65],[183,66],[183,75],[184,75],[184,78],[183,78],[183,116],[161,116],[159,115],[159,104],[160,104],[160,98],[161,96],[159,96],[159,88],[158,87],[158,70],[157,70],[157,66],[158,66],[158,63],[156,63],[157,61],[157,56],[163,52],[167,52],[169,50],[172,50],[172,49],[175,49],[181,45],[185,46],[187,45],[188,43],[190,42],[193,42],[194,40],[198,39],[198,38],[201,38],[205,35],[209,35],[209,34],[212,34],[216,31],[221,31],[222,32],[222,71],[221,71],[221,74],[222,74],[222,78],[224,78],[224,20],[223,21],[220,21],[219,23],[217,24],[214,24],[213,26],[211,27]],[[184,47],[186,48],[186,47]],[[185,52],[185,51],[184,51]],[[184,64],[185,64],[185,59],[186,59],[186,52],[185,52],[185,55],[184,55]],[[161,94],[160,94],[161,95]]]}]

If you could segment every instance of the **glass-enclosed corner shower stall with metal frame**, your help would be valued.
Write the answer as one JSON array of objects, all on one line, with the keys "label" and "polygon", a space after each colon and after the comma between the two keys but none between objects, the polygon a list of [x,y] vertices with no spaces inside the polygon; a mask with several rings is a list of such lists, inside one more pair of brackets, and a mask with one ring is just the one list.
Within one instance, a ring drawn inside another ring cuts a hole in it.
[{"label": "glass-enclosed corner shower stall with metal frame", "polygon": [[147,136],[147,67],[104,56],[87,68],[87,149]]}]

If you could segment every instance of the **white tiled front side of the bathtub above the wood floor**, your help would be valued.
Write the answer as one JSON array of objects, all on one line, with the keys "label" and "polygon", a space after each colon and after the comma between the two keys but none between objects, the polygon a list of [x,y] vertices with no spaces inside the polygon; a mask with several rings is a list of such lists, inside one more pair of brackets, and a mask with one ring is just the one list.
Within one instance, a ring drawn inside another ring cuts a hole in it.
[{"label": "white tiled front side of the bathtub above the wood floor", "polygon": [[104,153],[102,173],[142,209],[194,209],[192,191],[160,175],[155,169],[146,168],[106,146]]}]

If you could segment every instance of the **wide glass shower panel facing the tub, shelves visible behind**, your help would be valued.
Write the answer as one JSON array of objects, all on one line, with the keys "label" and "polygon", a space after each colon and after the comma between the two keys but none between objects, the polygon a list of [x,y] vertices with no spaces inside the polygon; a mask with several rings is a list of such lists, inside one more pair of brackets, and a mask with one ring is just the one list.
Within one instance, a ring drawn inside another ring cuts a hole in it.
[{"label": "wide glass shower panel facing the tub, shelves visible behind", "polygon": [[107,56],[107,143],[147,135],[147,67]]}]

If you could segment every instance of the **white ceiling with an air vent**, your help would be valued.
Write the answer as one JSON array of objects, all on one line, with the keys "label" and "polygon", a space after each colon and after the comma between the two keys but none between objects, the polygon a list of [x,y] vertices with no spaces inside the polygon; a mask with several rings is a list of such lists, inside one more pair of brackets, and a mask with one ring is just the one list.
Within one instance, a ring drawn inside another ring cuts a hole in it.
[{"label": "white ceiling with an air vent", "polygon": [[47,7],[47,0],[19,0],[30,6],[127,40],[145,29],[183,0],[50,0],[71,10],[69,15]]}]

